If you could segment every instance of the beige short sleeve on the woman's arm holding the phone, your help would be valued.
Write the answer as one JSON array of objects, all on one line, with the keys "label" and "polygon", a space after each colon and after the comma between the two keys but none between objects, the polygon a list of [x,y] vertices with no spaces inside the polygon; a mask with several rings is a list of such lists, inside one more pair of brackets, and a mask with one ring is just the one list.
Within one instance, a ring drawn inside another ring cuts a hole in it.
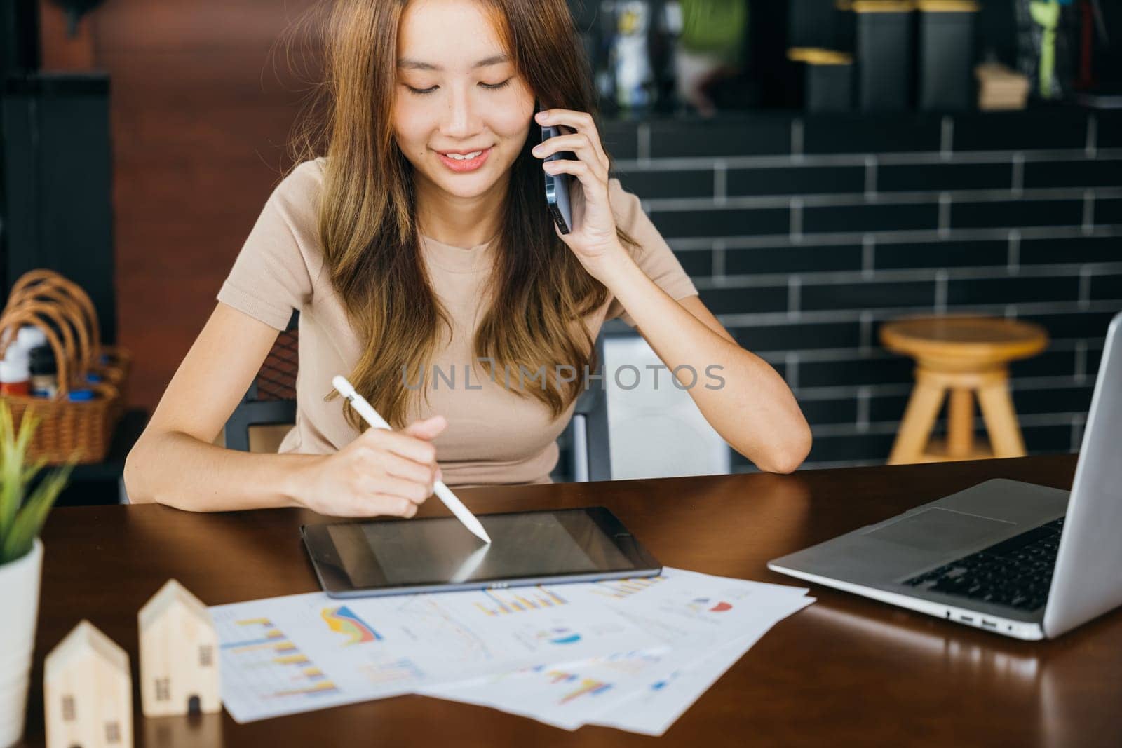
[{"label": "beige short sleeve on the woman's arm holding the phone", "polygon": [[[682,269],[682,264],[674,257],[670,244],[654,228],[654,223],[647,214],[643,212],[638,197],[624,190],[619,179],[611,178],[608,181],[608,200],[611,202],[611,212],[616,216],[616,225],[640,244],[638,248],[628,249],[633,250],[632,257],[635,258],[646,277],[674,301],[696,296],[697,287]],[[608,304],[608,311],[604,318],[607,321],[614,317],[619,317],[629,327],[635,326],[635,320],[627,314],[627,311],[616,298],[613,298]]]}]

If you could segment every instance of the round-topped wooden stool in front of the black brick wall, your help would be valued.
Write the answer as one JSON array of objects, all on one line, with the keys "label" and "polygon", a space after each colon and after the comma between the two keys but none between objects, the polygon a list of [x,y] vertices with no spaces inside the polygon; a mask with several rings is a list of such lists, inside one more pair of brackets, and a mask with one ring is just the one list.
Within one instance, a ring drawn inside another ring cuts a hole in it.
[{"label": "round-topped wooden stool in front of the black brick wall", "polygon": [[[1036,355],[1048,345],[1048,333],[1030,322],[947,315],[909,317],[881,327],[881,342],[916,359],[916,387],[889,455],[889,464],[1019,458],[1024,441],[1009,396],[1009,362]],[[942,398],[947,406],[947,441],[928,445]],[[992,449],[974,445],[974,400]]]}]

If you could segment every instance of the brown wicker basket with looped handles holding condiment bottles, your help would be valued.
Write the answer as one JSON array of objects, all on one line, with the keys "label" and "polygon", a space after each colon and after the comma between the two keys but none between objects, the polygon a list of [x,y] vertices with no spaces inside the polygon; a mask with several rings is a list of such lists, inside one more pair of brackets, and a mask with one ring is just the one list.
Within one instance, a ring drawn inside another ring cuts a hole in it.
[{"label": "brown wicker basket with looped handles holding condiment bottles", "polygon": [[[55,323],[58,334],[48,320]],[[54,398],[0,395],[11,409],[16,428],[29,410],[40,418],[28,456],[44,458],[48,464],[101,462],[123,413],[121,389],[131,355],[120,348],[107,350],[101,345],[98,315],[90,297],[50,270],[31,270],[12,286],[0,313],[0,357],[24,325],[43,331],[58,368]],[[99,375],[102,381],[90,384],[89,373]],[[92,389],[95,398],[71,401],[67,394],[77,388]]]}]

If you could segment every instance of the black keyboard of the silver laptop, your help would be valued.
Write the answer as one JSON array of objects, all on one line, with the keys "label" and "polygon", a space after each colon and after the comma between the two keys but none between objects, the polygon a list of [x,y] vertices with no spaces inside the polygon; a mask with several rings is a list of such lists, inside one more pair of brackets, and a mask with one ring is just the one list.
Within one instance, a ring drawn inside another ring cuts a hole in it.
[{"label": "black keyboard of the silver laptop", "polygon": [[1036,610],[1048,600],[1064,518],[905,580],[909,587]]}]

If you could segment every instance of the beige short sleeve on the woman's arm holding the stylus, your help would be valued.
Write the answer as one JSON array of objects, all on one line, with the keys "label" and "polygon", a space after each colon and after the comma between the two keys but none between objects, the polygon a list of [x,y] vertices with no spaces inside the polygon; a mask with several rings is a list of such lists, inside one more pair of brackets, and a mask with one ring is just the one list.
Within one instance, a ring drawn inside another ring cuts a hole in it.
[{"label": "beige short sleeve on the woman's arm holding the stylus", "polygon": [[305,161],[285,177],[261,209],[218,301],[270,327],[288,326],[293,310],[312,298],[309,257],[318,251],[316,198],[322,170]]}]

